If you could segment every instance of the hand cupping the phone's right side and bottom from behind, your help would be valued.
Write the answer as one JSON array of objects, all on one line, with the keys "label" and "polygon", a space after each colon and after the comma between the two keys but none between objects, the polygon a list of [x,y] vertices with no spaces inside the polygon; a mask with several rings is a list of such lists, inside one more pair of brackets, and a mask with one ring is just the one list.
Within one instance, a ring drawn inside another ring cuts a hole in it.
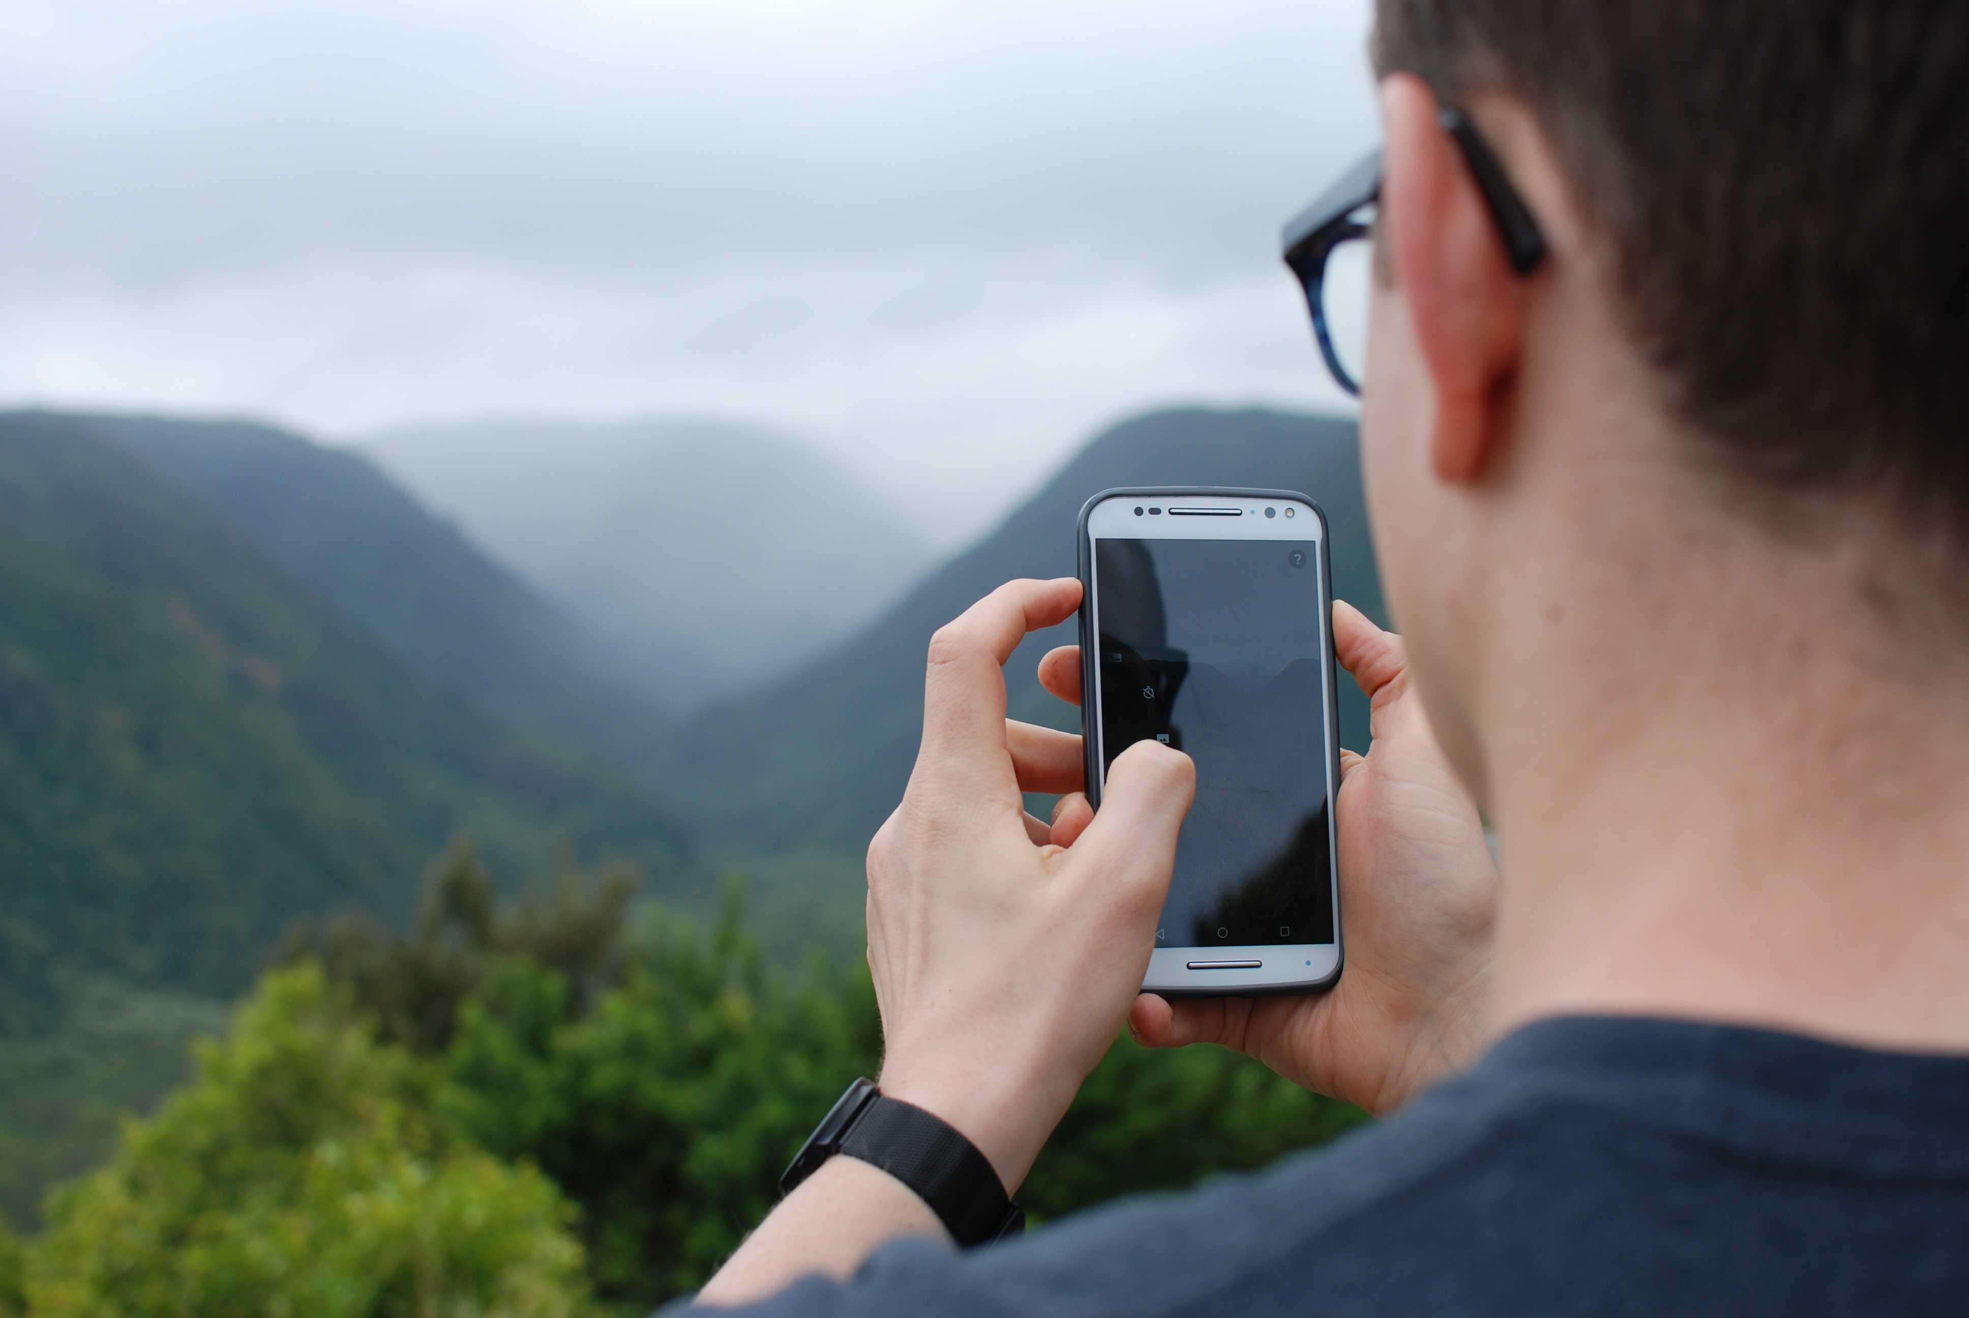
[{"label": "hand cupping the phone's right side and bottom from behind", "polygon": [[[1366,757],[1341,753],[1339,869],[1347,965],[1331,993],[1136,999],[1128,1028],[1152,1048],[1223,1044],[1307,1089],[1370,1113],[1461,1070],[1485,1036],[1496,863],[1477,804],[1435,745],[1410,688],[1402,638],[1333,605],[1333,648],[1372,705]],[[1079,701],[1079,648],[1040,662],[1051,693]],[[1085,796],[1053,814],[1071,845]]]}]

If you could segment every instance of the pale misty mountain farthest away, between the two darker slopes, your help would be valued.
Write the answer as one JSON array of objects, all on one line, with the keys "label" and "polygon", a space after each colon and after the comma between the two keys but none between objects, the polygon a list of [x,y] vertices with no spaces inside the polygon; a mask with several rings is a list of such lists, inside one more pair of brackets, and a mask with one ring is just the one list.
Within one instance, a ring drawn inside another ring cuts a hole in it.
[{"label": "pale misty mountain farthest away, between the two darker slopes", "polygon": [[927,565],[894,500],[748,426],[482,422],[364,447],[616,644],[671,709],[795,670]]}]

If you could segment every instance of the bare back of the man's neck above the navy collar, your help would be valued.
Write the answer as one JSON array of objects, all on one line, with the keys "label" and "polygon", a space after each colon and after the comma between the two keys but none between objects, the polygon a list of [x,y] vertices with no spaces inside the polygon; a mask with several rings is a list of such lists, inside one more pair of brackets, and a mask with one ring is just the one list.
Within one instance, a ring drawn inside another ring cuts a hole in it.
[{"label": "bare back of the man's neck above the navy collar", "polygon": [[1500,1032],[1583,1011],[1969,1052],[1969,690],[1869,664],[1892,642],[1800,609],[1853,599],[1806,575],[1672,638],[1648,619],[1685,599],[1589,585],[1540,638],[1573,676],[1500,695]]}]

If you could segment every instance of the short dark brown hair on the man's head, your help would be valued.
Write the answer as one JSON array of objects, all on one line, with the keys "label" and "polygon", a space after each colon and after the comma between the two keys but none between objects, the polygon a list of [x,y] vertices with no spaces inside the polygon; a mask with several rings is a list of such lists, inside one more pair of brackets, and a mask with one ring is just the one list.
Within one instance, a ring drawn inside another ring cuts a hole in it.
[{"label": "short dark brown hair on the man's head", "polygon": [[1969,538],[1969,4],[1380,0],[1374,61],[1532,108],[1709,455]]}]

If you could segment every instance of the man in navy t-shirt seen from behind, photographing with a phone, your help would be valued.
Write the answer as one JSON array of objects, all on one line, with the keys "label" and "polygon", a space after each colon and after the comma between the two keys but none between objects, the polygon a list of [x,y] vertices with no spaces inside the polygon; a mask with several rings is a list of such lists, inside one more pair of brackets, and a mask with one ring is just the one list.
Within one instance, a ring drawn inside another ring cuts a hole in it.
[{"label": "man in navy t-shirt seen from behind, photographing with a phone", "polygon": [[1339,987],[1136,997],[1189,762],[1134,747],[1046,825],[1018,790],[1079,749],[1004,723],[1073,581],[933,638],[868,959],[882,1093],[1006,1190],[1124,1019],[1388,1119],[969,1253],[833,1156],[701,1302],[1969,1304],[1969,6],[1382,0],[1376,61],[1363,455],[1406,638],[1335,609],[1374,705]]}]

